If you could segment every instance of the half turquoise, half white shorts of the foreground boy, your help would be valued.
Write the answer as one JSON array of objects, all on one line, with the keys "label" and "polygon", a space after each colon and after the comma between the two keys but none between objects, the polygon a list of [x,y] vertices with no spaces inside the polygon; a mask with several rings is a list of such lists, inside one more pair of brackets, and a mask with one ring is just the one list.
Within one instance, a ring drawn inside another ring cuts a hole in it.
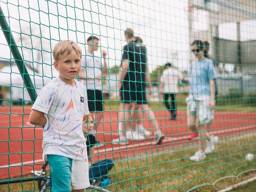
[{"label": "half turquoise, half white shorts of the foreground boy", "polygon": [[[60,155],[47,155],[51,173],[51,192],[71,192],[90,186],[89,165]],[[72,184],[72,187],[71,187]]]}]

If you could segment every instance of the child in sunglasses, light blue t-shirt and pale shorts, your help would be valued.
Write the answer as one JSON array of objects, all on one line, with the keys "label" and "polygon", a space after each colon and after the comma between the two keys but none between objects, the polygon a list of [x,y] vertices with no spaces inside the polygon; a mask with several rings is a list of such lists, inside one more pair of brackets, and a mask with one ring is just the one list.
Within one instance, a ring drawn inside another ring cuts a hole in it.
[{"label": "child in sunglasses, light blue t-shirt and pale shorts", "polygon": [[192,131],[198,130],[199,136],[198,151],[190,158],[193,161],[205,159],[205,155],[211,153],[218,142],[218,137],[210,136],[209,133],[209,126],[214,117],[214,79],[217,75],[212,60],[204,56],[204,46],[200,40],[195,40],[191,44],[191,51],[196,60],[192,61],[189,73],[187,123]]}]

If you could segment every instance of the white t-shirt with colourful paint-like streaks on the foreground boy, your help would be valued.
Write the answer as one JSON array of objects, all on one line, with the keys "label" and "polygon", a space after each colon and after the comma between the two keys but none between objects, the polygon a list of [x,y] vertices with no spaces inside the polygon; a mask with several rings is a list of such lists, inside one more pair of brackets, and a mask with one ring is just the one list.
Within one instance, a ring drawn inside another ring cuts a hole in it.
[{"label": "white t-shirt with colourful paint-like streaks on the foreground boy", "polygon": [[48,154],[88,161],[86,140],[82,132],[83,115],[89,113],[84,85],[64,83],[59,77],[42,88],[32,109],[46,115],[43,157]]}]

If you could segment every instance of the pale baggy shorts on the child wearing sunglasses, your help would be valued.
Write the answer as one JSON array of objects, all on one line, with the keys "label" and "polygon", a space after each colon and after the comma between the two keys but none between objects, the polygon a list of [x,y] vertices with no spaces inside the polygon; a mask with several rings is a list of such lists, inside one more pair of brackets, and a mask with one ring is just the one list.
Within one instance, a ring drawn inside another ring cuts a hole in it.
[{"label": "pale baggy shorts on the child wearing sunglasses", "polygon": [[186,99],[189,116],[199,118],[199,124],[211,123],[214,110],[210,109],[210,97],[206,100],[194,100],[192,96]]}]

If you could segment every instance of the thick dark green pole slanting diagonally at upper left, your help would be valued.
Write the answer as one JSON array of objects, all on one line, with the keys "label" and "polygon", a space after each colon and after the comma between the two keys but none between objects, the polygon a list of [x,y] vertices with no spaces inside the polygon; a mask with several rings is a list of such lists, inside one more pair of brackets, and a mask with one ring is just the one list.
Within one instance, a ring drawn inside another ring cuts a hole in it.
[{"label": "thick dark green pole slanting diagonally at upper left", "polygon": [[19,53],[17,44],[16,44],[16,42],[15,42],[15,40],[14,40],[12,34],[11,34],[9,25],[8,25],[8,23],[7,23],[7,21],[4,17],[1,6],[0,6],[0,26],[1,26],[2,31],[4,33],[5,39],[6,39],[7,43],[9,44],[11,53],[13,55],[13,58],[14,58],[15,62],[16,62],[19,73],[20,73],[20,75],[21,75],[21,77],[22,77],[22,79],[25,83],[25,86],[27,87],[27,92],[28,92],[31,100],[34,102],[37,98],[37,93],[35,91],[33,83],[31,82],[31,79],[30,79],[30,77],[27,73],[27,68],[25,66],[24,60],[23,60],[23,58],[21,57],[21,55]]}]

